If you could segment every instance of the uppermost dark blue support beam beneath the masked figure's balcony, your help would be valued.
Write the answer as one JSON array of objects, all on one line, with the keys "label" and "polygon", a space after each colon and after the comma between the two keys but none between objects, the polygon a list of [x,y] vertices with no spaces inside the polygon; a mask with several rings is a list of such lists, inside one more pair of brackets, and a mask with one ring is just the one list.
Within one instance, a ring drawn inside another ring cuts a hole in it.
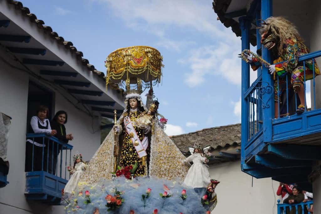
[{"label": "uppermost dark blue support beam beneath the masked figure's balcony", "polygon": [[273,153],[285,159],[293,160],[321,160],[321,147],[309,145],[269,144],[267,147],[269,153]]}]

